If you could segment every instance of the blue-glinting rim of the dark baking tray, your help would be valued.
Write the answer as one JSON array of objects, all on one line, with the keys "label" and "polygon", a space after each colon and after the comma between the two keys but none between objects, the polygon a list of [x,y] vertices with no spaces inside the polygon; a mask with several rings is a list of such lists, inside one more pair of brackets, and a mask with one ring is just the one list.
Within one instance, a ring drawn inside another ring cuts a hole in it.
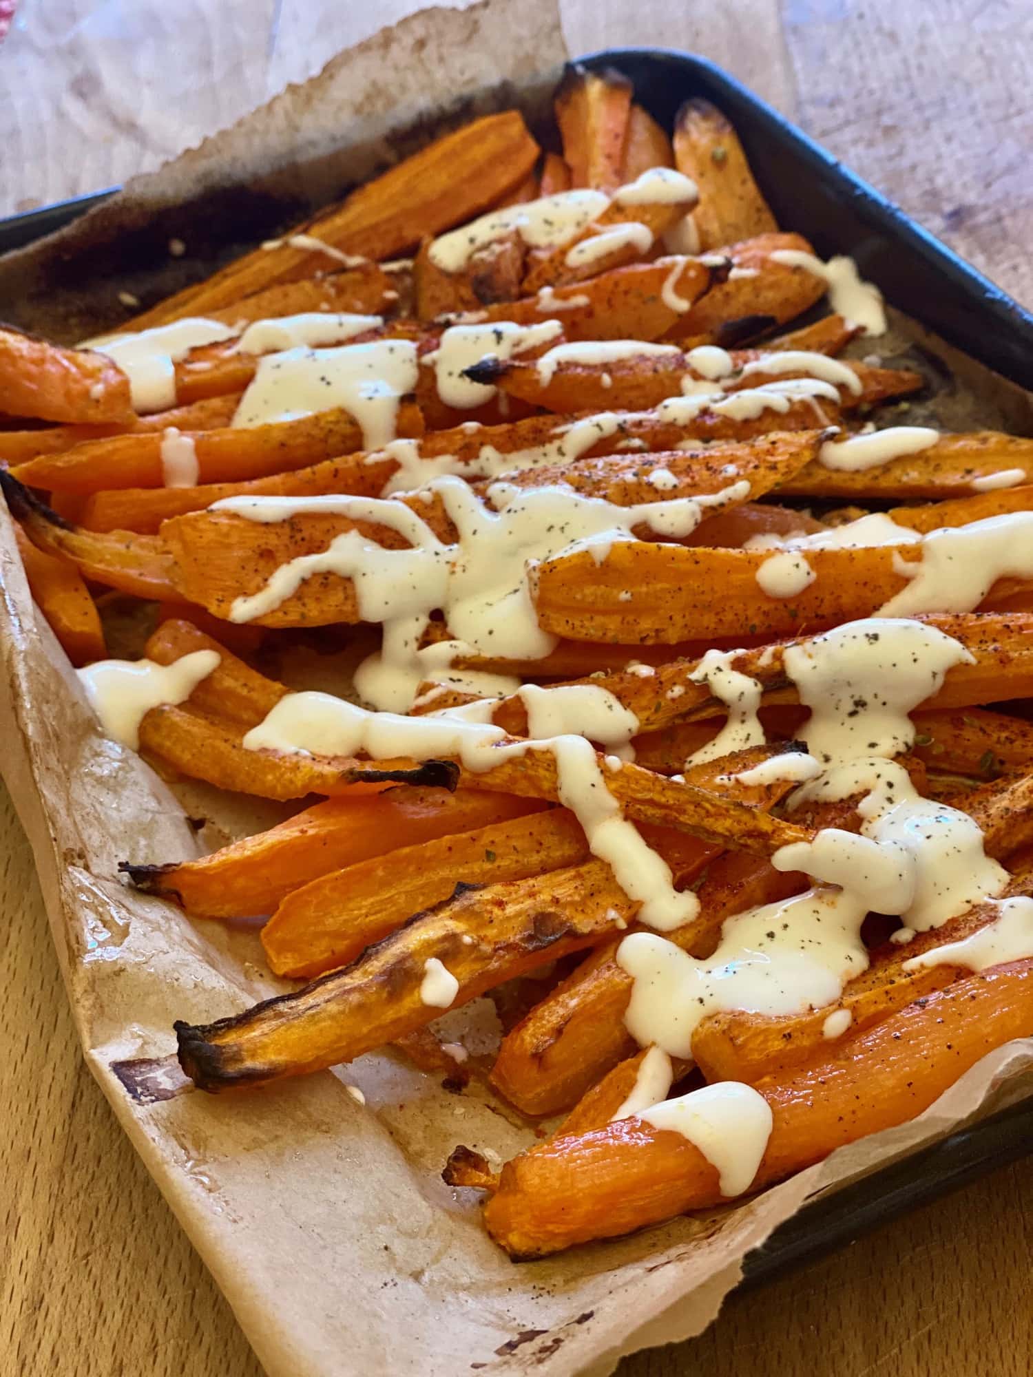
[{"label": "blue-glinting rim of the dark baking tray", "polygon": [[[815,176],[831,179],[842,190],[850,191],[854,205],[866,220],[879,226],[891,238],[904,240],[954,286],[978,296],[972,306],[986,313],[990,322],[1004,324],[1025,336],[1030,362],[1027,369],[1021,370],[1023,377],[1015,377],[1010,368],[1001,368],[1000,359],[990,362],[981,357],[985,351],[981,351],[979,346],[985,343],[985,336],[977,336],[959,347],[1019,386],[1033,388],[1033,313],[979,269],[708,58],[679,48],[624,45],[594,50],[570,58],[570,65],[584,65],[589,69],[620,67],[621,61],[627,59],[678,67],[687,77],[704,76],[734,102],[752,106],[763,123],[775,128],[784,140],[795,145],[795,151],[810,165]],[[0,256],[63,229],[120,190],[120,186],[110,186],[30,211],[0,216]],[[763,1285],[774,1276],[785,1275],[789,1268],[802,1267],[836,1252],[864,1234],[961,1190],[1030,1151],[1033,1151],[1033,1093],[1005,1110],[979,1118],[857,1181],[804,1203],[793,1217],[778,1226],[762,1246],[745,1256],[740,1286]]]}]

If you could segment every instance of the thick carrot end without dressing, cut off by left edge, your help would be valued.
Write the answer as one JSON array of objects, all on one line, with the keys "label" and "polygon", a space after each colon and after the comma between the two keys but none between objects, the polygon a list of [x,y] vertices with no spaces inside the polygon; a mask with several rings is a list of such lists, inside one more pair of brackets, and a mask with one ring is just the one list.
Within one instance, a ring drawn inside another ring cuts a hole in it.
[{"label": "thick carrot end without dressing, cut off by left edge", "polygon": [[103,425],[132,423],[129,380],[105,354],[62,348],[0,328],[0,398],[8,416]]}]

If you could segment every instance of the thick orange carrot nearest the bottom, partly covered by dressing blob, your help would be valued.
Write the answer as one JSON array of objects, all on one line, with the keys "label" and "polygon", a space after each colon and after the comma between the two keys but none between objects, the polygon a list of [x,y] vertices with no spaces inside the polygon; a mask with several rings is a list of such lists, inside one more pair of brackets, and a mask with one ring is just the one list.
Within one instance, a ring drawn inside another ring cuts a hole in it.
[{"label": "thick orange carrot nearest the bottom, partly covered by dressing blob", "polygon": [[[1029,961],[972,975],[843,1038],[832,1056],[760,1081],[774,1125],[751,1188],[928,1108],[988,1052],[1033,1033],[1032,989]],[[629,1118],[507,1162],[485,1223],[510,1256],[541,1257],[720,1199],[697,1147]]]}]

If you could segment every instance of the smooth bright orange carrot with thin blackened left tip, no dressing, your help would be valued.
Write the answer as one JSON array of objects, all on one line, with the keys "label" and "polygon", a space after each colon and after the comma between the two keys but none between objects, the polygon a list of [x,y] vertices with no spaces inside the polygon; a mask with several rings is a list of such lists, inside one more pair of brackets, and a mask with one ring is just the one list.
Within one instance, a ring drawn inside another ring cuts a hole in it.
[{"label": "smooth bright orange carrot with thin blackened left tip, no dressing", "polygon": [[344,866],[516,818],[536,807],[500,793],[399,785],[375,797],[326,799],[200,861],[123,863],[120,869],[145,894],[172,899],[189,913],[242,918],[271,913],[292,891]]}]

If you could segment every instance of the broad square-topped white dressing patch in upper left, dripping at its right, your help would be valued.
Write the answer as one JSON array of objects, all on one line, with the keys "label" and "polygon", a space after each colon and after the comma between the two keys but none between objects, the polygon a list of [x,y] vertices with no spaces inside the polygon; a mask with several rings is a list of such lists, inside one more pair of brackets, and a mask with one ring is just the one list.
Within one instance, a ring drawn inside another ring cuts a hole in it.
[{"label": "broad square-topped white dressing patch in upper left, dripping at its right", "polygon": [[412,340],[264,354],[233,424],[269,425],[340,406],[355,417],[364,446],[375,449],[394,439],[398,403],[415,390],[416,379]]}]

